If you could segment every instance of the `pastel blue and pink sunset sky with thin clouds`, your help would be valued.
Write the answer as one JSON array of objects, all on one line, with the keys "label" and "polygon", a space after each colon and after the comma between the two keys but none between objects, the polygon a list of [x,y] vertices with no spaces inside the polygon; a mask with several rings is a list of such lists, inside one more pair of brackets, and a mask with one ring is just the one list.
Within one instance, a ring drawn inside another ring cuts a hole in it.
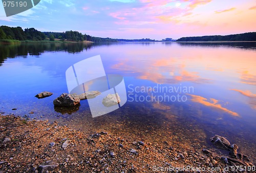
[{"label": "pastel blue and pink sunset sky with thin clouds", "polygon": [[256,31],[256,0],[41,0],[0,26],[79,31],[98,37],[178,39]]}]

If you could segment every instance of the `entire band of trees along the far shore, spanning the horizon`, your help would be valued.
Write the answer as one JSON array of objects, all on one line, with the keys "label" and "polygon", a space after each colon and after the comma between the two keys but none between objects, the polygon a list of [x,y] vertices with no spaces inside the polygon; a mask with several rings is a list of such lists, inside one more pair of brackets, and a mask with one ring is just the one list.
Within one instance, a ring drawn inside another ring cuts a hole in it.
[{"label": "entire band of trees along the far shore, spanning the horizon", "polygon": [[[87,34],[82,34],[78,31],[66,32],[41,32],[34,28],[26,28],[23,30],[21,27],[0,27],[0,39],[15,39],[15,40],[45,40],[49,39],[54,41],[56,38],[59,40],[69,41],[93,41],[93,42],[159,42],[155,39],[142,38],[142,39],[113,39],[94,37]],[[175,41],[172,38],[165,38],[162,41]],[[210,36],[196,36],[196,37],[182,37],[176,41],[256,41],[256,32],[248,32],[243,34],[232,35],[210,35]]]}]

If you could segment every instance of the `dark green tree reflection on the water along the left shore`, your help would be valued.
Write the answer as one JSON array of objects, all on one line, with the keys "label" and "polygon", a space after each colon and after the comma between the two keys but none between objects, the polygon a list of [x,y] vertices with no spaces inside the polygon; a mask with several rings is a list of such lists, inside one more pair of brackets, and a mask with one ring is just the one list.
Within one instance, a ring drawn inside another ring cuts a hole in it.
[{"label": "dark green tree reflection on the water along the left shore", "polygon": [[27,55],[40,55],[46,51],[67,51],[69,53],[82,52],[99,44],[83,44],[83,43],[62,43],[62,42],[32,42],[22,43],[19,45],[0,45],[0,66],[7,58],[15,58],[17,56],[26,58]]}]

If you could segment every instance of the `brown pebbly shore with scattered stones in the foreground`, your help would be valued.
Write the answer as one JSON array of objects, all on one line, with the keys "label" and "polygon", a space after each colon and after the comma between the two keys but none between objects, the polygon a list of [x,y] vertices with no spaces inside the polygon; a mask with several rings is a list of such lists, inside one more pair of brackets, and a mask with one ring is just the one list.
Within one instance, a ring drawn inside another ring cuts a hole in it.
[{"label": "brown pebbly shore with scattered stones in the foreground", "polygon": [[80,132],[56,121],[14,115],[1,115],[0,124],[0,172],[231,172],[234,166],[241,171],[233,172],[249,167],[253,172],[251,163],[223,159],[219,149],[151,143],[109,131]]}]

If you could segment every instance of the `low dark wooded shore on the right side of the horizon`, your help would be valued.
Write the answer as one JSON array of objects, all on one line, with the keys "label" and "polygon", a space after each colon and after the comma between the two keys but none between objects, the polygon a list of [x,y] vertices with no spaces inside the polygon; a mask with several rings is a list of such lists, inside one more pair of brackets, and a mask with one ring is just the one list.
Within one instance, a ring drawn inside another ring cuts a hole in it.
[{"label": "low dark wooded shore on the right side of the horizon", "polygon": [[177,41],[256,41],[256,32],[231,35],[210,35],[197,37],[182,37]]}]

